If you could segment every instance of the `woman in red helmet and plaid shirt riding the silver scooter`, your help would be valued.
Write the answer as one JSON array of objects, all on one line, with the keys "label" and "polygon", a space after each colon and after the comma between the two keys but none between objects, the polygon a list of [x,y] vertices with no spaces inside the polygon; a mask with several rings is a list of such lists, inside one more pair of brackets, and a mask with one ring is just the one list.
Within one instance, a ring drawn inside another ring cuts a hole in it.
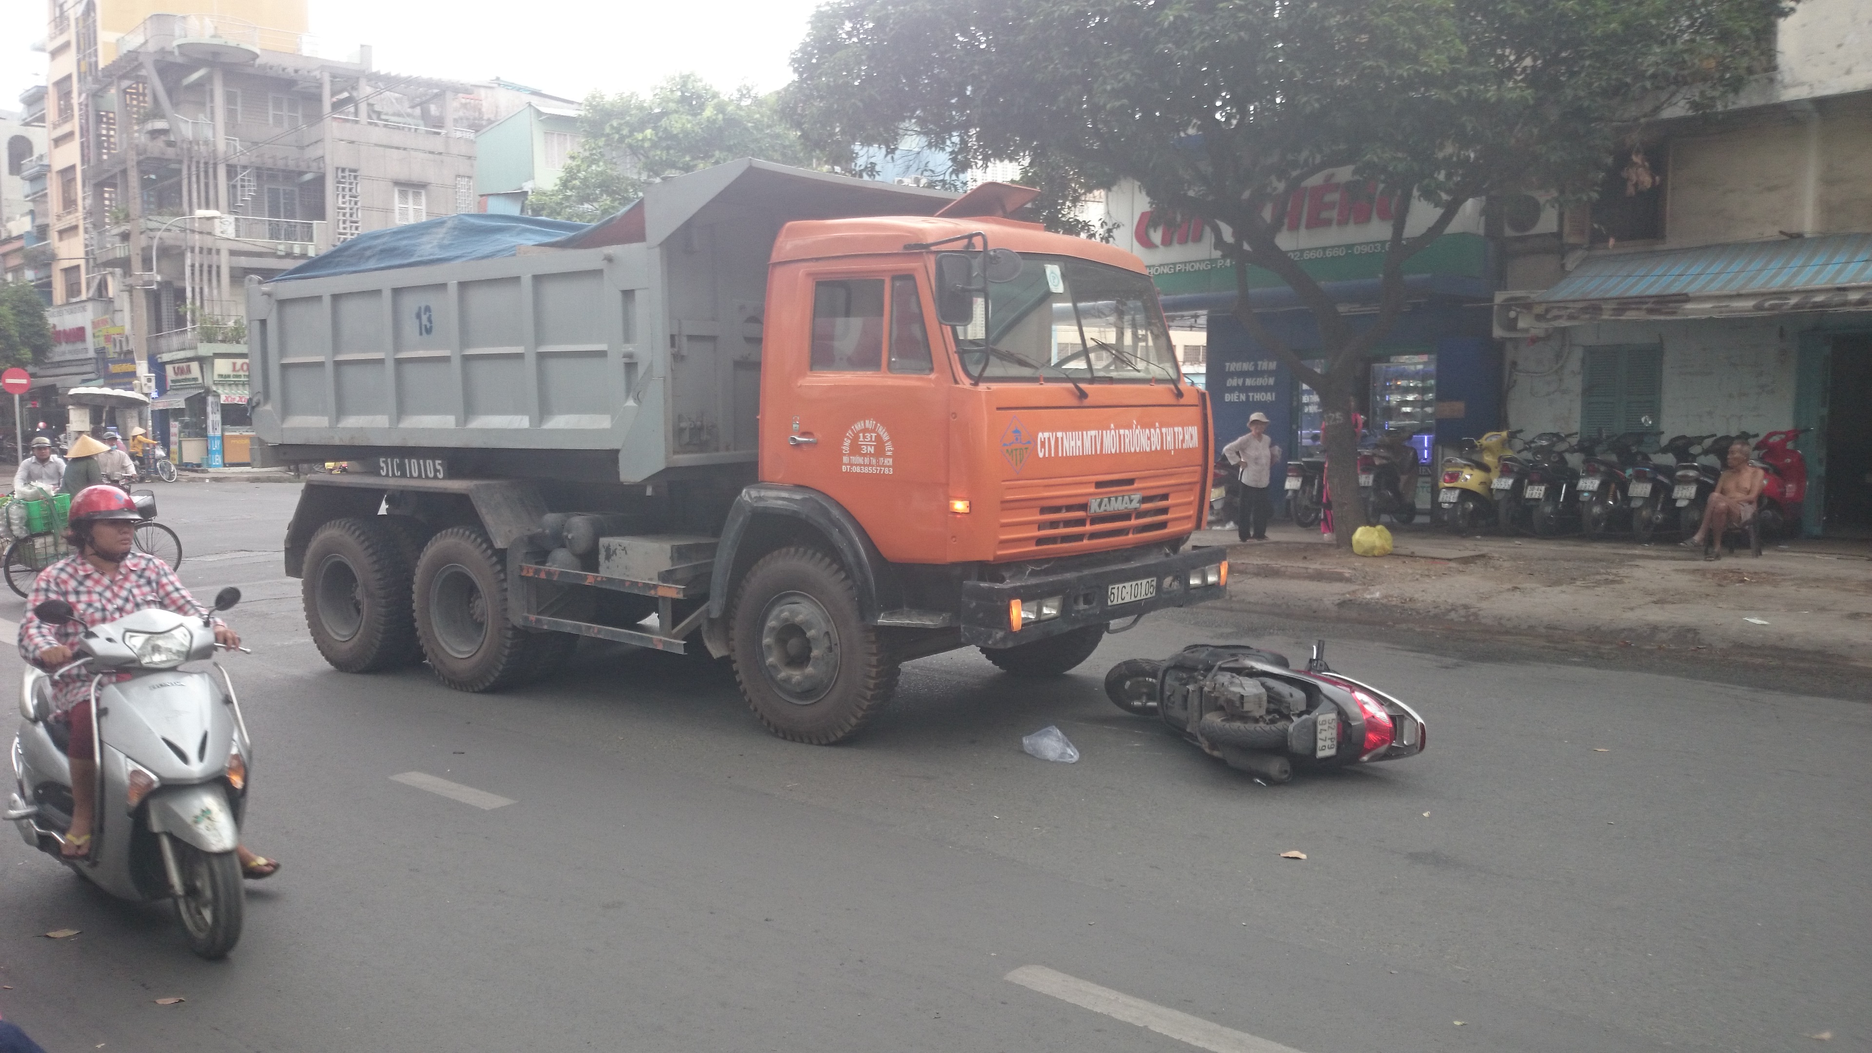
[{"label": "woman in red helmet and plaid shirt riding the silver scooter", "polygon": [[[182,579],[163,560],[131,551],[137,523],[142,515],[131,497],[118,487],[94,485],[71,498],[66,519],[66,543],[71,555],[45,568],[26,600],[26,616],[19,622],[19,654],[26,661],[58,671],[71,661],[73,645],[84,626],[101,626],[125,615],[163,607],[178,615],[200,616],[204,607],[189,596]],[[75,620],[45,622],[37,616],[39,603],[64,600],[77,613]],[[240,646],[240,637],[215,620],[215,641]],[[66,755],[71,759],[71,828],[64,838],[64,858],[80,860],[90,854],[90,830],[97,804],[97,763],[92,748],[92,710],[88,676],[52,678],[52,708],[69,721],[71,738]],[[241,875],[271,877],[277,860],[240,849]]]}]

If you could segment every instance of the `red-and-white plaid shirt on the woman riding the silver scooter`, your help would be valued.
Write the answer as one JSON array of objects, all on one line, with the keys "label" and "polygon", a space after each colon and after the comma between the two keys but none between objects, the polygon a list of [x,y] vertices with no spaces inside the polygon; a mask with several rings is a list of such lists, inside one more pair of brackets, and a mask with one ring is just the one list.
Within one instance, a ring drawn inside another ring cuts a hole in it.
[{"label": "red-and-white plaid shirt on the woman riding the silver scooter", "polygon": [[[131,551],[116,577],[105,577],[84,556],[71,555],[45,568],[26,598],[26,616],[19,620],[19,656],[34,665],[39,665],[39,652],[49,646],[64,645],[75,652],[84,635],[84,628],[75,622],[41,622],[34,609],[47,600],[71,603],[86,626],[114,622],[150,607],[178,615],[206,613],[182,586],[176,571],[152,555]],[[52,704],[58,712],[90,697],[90,673],[79,669],[52,680]]]}]

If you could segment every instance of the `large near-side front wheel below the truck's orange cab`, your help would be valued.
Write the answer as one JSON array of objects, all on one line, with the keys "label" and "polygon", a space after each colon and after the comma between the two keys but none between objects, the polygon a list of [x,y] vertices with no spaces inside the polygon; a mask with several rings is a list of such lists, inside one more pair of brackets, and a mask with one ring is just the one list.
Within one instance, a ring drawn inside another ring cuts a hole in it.
[{"label": "large near-side front wheel below the truck's orange cab", "polygon": [[781,549],[756,562],[728,626],[741,695],[781,738],[839,742],[897,690],[897,663],[859,618],[852,579],[820,551]]}]

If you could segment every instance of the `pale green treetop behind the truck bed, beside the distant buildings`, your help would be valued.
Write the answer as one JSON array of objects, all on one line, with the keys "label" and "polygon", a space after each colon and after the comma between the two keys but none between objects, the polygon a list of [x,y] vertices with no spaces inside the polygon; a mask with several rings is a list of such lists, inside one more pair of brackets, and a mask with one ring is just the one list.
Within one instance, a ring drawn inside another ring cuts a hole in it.
[{"label": "pale green treetop behind the truck bed, beside the distant buildings", "polygon": [[582,141],[552,189],[534,193],[528,212],[592,223],[631,204],[644,185],[734,161],[762,157],[807,165],[811,152],[781,118],[775,96],[753,88],[719,92],[695,73],[678,73],[650,96],[593,94],[578,118]]}]

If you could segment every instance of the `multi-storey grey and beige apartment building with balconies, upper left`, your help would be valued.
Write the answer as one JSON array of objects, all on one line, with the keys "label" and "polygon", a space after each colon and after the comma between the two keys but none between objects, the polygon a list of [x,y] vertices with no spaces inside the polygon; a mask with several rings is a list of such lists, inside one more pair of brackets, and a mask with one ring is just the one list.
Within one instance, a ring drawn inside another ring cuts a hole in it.
[{"label": "multi-storey grey and beige apartment building with balconies, upper left", "polygon": [[474,212],[485,103],[475,84],[378,71],[369,47],[333,51],[305,34],[303,0],[163,6],[52,0],[49,285],[54,311],[90,320],[92,356],[39,380],[139,388],[185,463],[240,463],[245,279]]}]

